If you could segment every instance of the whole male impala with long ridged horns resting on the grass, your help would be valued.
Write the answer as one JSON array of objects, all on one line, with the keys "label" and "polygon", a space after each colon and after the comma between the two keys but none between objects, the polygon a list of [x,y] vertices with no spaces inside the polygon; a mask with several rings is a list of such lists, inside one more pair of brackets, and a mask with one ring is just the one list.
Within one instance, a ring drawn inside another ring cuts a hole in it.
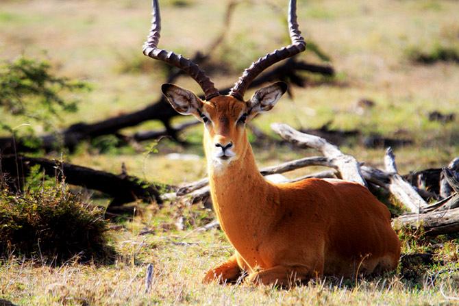
[{"label": "whole male impala with long ridged horns resting on the grass", "polygon": [[292,44],[253,62],[229,94],[221,95],[196,64],[158,49],[160,11],[158,0],[153,0],[143,53],[182,68],[205,94],[203,101],[173,84],[162,86],[177,112],[194,115],[204,124],[214,210],[236,248],[226,262],[207,272],[205,282],[235,281],[244,271],[249,281],[288,285],[292,279],[391,270],[399,260],[400,243],[390,227],[388,209],[364,186],[339,179],[276,184],[258,171],[245,125],[271,110],[287,86],[279,82],[256,91],[249,101],[243,97],[264,69],[304,51],[295,0],[290,0],[288,27]]}]

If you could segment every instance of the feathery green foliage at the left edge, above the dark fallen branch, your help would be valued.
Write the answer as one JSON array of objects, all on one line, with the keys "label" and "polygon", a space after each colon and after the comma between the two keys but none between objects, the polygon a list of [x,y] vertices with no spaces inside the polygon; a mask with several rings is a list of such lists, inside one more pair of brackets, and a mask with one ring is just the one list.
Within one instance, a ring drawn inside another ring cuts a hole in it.
[{"label": "feathery green foliage at the left edge, above the dark fallen branch", "polygon": [[[77,100],[64,99],[64,92],[88,90],[88,85],[51,73],[47,62],[18,58],[0,66],[0,107],[13,116],[35,120],[51,129],[60,112],[75,112]],[[11,127],[0,124],[3,129]]]}]

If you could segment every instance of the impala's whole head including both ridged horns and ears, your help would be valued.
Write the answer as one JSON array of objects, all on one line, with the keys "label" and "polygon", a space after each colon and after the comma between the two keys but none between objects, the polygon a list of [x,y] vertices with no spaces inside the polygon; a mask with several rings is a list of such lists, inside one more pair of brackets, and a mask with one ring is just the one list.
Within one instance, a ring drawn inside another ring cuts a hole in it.
[{"label": "impala's whole head including both ridged horns and ears", "polygon": [[287,85],[278,82],[257,90],[249,101],[244,100],[245,91],[262,71],[306,49],[306,43],[298,29],[296,8],[297,1],[290,0],[288,28],[292,44],[253,62],[229,90],[229,94],[224,96],[216,90],[212,81],[197,64],[182,55],[158,48],[161,18],[158,0],[153,0],[151,30],[143,47],[143,53],[150,58],[181,68],[201,86],[205,100],[173,84],[164,84],[162,92],[177,112],[194,115],[205,125],[204,144],[208,159],[212,159],[212,162],[226,165],[241,157],[249,146],[245,134],[246,123],[260,112],[271,110],[286,92]]}]

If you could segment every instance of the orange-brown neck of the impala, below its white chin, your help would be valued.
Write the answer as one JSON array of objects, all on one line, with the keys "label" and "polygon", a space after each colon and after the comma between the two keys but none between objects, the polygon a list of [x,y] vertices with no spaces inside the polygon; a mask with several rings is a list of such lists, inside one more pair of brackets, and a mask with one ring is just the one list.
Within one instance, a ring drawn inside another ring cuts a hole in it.
[{"label": "orange-brown neck of the impala, below its white chin", "polygon": [[212,162],[210,148],[206,146],[209,142],[204,139],[214,210],[227,238],[241,255],[246,246],[262,239],[266,222],[276,218],[279,206],[277,188],[264,180],[247,136],[244,139],[239,144],[245,146],[243,154],[224,167]]}]

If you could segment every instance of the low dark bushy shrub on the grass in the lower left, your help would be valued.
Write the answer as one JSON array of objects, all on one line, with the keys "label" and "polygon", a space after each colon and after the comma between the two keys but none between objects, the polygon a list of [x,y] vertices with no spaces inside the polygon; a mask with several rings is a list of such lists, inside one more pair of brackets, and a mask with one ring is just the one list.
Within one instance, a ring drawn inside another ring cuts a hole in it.
[{"label": "low dark bushy shrub on the grass in the lower left", "polygon": [[[99,207],[84,203],[64,183],[36,183],[29,178],[21,194],[0,192],[0,257],[10,255],[62,263],[75,256],[82,261],[110,259],[108,230]],[[47,181],[47,180],[45,180]]]}]

